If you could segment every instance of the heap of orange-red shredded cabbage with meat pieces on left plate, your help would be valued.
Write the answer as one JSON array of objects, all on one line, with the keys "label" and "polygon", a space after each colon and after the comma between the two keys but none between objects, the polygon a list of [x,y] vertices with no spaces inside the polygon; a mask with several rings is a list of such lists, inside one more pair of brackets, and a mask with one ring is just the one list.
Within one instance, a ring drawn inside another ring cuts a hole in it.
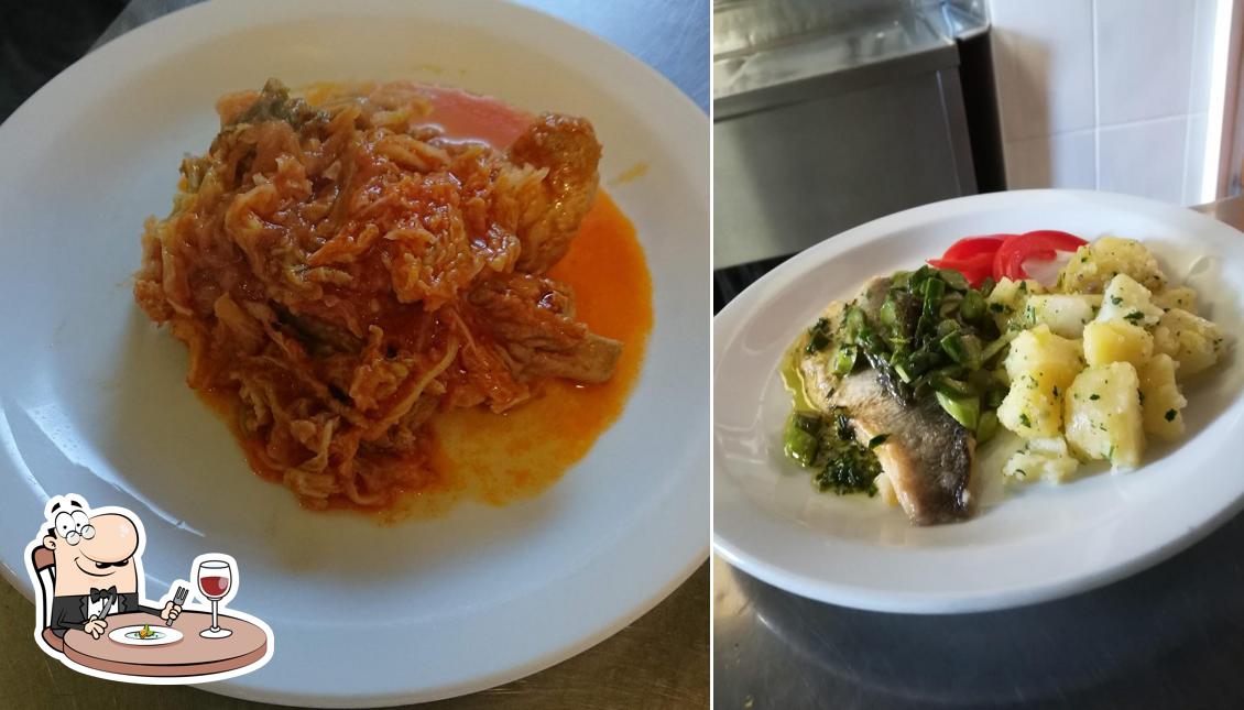
[{"label": "heap of orange-red shredded cabbage with meat pieces on left plate", "polygon": [[134,297],[305,505],[418,489],[438,412],[612,376],[622,343],[544,275],[596,194],[587,121],[534,117],[505,150],[449,141],[411,83],[310,106],[270,81],[218,112],[147,221]]}]

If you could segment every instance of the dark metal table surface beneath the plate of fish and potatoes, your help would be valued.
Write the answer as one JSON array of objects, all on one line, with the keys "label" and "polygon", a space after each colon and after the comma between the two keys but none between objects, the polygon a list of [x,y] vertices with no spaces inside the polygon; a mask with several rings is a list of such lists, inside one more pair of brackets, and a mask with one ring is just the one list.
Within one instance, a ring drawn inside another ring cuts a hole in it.
[{"label": "dark metal table surface beneath the plate of fish and potatoes", "polygon": [[[1195,209],[1244,229],[1244,198]],[[1242,708],[1242,550],[1244,515],[1107,587],[958,615],[822,604],[718,557],[714,705]]]}]

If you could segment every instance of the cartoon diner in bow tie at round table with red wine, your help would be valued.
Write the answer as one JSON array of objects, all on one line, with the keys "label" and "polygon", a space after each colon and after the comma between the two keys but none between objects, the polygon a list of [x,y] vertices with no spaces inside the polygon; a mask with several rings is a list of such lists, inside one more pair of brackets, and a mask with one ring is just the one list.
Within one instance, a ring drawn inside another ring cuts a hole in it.
[{"label": "cartoon diner in bow tie at round table with red wine", "polygon": [[[70,668],[112,680],[205,683],[243,675],[272,657],[272,630],[229,609],[238,563],[200,555],[195,584],[178,579],[159,602],[146,598],[143,523],[122,507],[90,509],[70,494],[47,501],[26,548],[36,596],[35,642]],[[194,596],[208,604],[189,599]]]}]

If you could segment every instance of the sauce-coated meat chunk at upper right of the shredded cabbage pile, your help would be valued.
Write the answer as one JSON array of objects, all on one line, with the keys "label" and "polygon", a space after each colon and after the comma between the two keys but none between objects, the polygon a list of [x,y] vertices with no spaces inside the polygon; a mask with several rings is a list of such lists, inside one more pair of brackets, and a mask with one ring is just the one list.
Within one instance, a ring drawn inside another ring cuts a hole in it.
[{"label": "sauce-coated meat chunk at upper right of the shredded cabbage pile", "polygon": [[582,118],[545,113],[510,145],[510,160],[545,168],[545,209],[526,209],[518,226],[518,270],[542,274],[561,260],[596,199],[601,144]]}]

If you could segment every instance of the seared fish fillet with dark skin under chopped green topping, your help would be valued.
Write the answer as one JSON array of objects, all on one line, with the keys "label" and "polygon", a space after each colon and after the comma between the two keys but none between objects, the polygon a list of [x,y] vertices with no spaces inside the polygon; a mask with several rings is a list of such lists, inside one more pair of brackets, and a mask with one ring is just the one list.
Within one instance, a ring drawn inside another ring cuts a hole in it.
[{"label": "seared fish fillet with dark skin under chopped green topping", "polygon": [[[872,318],[881,308],[889,279],[870,280],[856,297],[856,305]],[[847,303],[830,303],[821,317],[836,328]],[[805,333],[799,348],[799,369],[804,393],[822,413],[843,407],[851,417],[861,443],[887,434],[875,449],[883,474],[893,485],[903,511],[917,525],[935,525],[964,520],[972,515],[972,468],[975,439],[954,420],[932,395],[904,404],[891,394],[876,371],[868,368],[846,377],[832,372],[832,348],[806,354]]]}]

